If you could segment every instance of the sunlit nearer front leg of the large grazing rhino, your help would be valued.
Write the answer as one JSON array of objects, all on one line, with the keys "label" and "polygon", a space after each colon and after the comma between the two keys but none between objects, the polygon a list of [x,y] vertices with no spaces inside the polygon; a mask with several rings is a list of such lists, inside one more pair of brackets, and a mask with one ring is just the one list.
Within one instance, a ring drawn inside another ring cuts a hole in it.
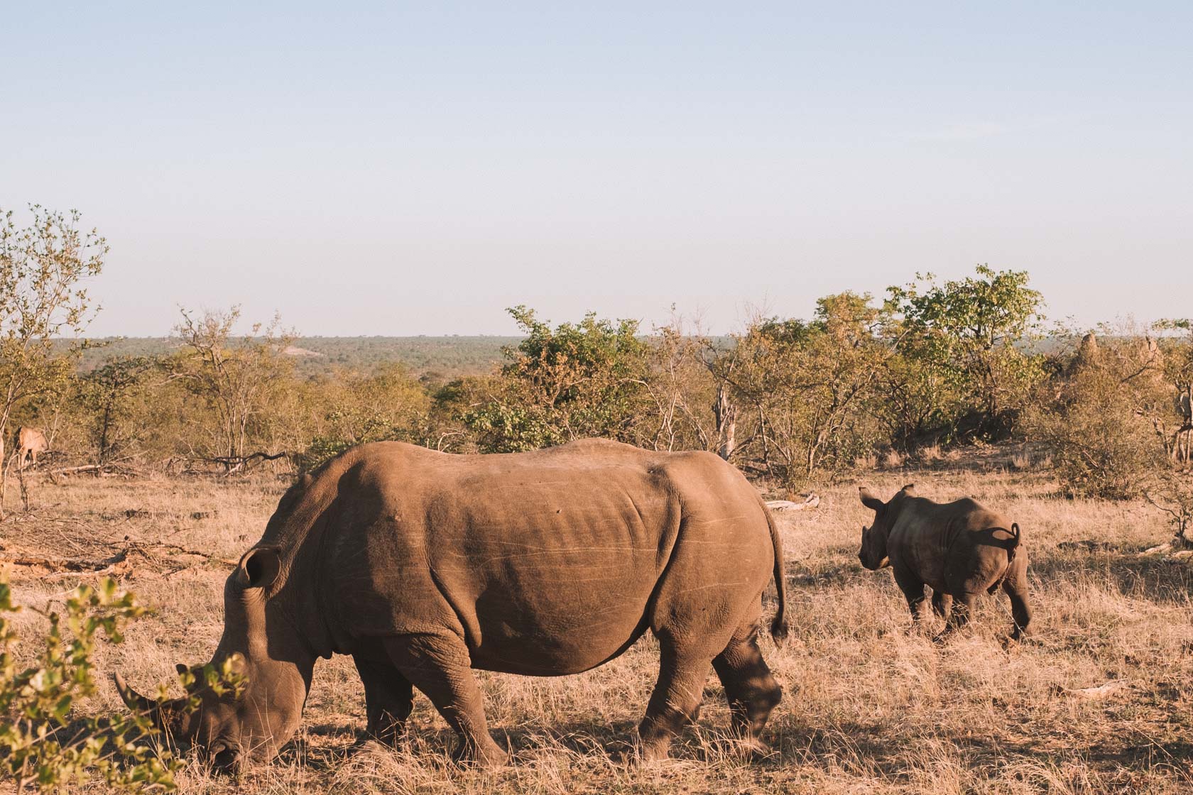
[{"label": "sunlit nearer front leg of the large grazing rhino", "polygon": [[453,759],[494,768],[506,764],[508,754],[489,735],[481,688],[460,638],[402,635],[387,640],[385,650],[394,665],[456,731],[459,745]]}]

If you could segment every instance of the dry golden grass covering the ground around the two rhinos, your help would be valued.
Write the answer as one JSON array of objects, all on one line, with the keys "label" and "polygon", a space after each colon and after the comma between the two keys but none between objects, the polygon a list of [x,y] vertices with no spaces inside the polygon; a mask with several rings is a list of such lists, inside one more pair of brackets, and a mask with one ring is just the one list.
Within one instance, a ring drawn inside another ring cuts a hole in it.
[{"label": "dry golden grass covering the ground around the two rhinos", "polygon": [[[534,679],[481,673],[490,723],[513,750],[497,772],[460,770],[446,758],[445,723],[421,696],[407,749],[353,747],[364,700],[351,660],[321,663],[305,728],[272,765],[239,782],[198,763],[183,793],[1182,793],[1193,788],[1193,629],[1187,561],[1141,557],[1168,538],[1143,503],[1067,501],[1037,470],[935,468],[869,472],[889,496],[909,480],[921,495],[963,495],[996,507],[1025,532],[1036,617],[1031,639],[1007,651],[1006,601],[985,600],[972,628],[942,648],[908,633],[890,572],[857,560],[870,511],[857,484],[821,491],[821,507],[781,518],[791,582],[792,633],[765,653],[785,689],[766,739],[774,752],[746,762],[727,751],[728,710],[715,677],[698,726],[674,759],[648,768],[611,762],[645,707],[657,673],[643,640],[580,676]],[[35,510],[0,524],[7,549],[104,557],[130,541],[166,541],[235,558],[260,535],[280,482],[93,480],[36,483]],[[148,517],[125,516],[144,509]],[[194,520],[196,511],[214,511]],[[228,566],[180,554],[130,555],[128,582],[155,615],[105,648],[101,670],[120,669],[141,690],[171,677],[178,660],[208,659],[222,629]],[[155,552],[159,549],[159,552]],[[191,563],[179,569],[179,561]],[[79,577],[13,572],[16,597],[44,604]],[[21,614],[36,632],[41,619]],[[1123,679],[1102,697],[1073,690]],[[118,709],[105,682],[91,708]]]}]

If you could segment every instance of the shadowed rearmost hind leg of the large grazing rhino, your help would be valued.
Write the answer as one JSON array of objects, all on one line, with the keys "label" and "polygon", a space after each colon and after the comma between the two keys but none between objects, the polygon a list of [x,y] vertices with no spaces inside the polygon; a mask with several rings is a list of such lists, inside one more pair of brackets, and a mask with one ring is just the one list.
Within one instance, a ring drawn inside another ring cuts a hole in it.
[{"label": "shadowed rearmost hind leg of the large grazing rhino", "polygon": [[779,701],[783,688],[758,647],[758,622],[740,628],[725,651],[712,660],[712,667],[725,689],[734,735],[754,750],[761,750],[759,735]]}]

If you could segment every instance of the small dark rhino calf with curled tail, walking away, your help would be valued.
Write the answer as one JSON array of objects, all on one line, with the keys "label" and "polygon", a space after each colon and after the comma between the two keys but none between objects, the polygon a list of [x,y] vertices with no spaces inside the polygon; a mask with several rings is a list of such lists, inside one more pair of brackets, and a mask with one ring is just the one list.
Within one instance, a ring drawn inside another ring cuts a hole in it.
[{"label": "small dark rhino calf with curled tail, walking away", "polygon": [[[1019,526],[987,510],[973,499],[937,503],[907,485],[884,503],[860,489],[861,504],[874,511],[871,527],[861,528],[858,558],[871,571],[890,566],[907,597],[911,617],[920,620],[923,586],[932,586],[932,609],[947,614],[944,639],[969,621],[973,600],[1001,585],[1010,597],[1015,626],[1010,639],[1027,631],[1027,549]],[[952,611],[950,613],[950,605]]]}]

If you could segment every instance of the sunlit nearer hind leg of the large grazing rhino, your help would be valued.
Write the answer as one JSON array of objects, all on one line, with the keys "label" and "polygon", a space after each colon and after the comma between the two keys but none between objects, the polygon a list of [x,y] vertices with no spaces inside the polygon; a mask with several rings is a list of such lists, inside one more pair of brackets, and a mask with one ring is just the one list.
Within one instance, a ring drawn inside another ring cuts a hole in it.
[{"label": "sunlit nearer hind leg of the large grazing rhino", "polygon": [[672,739],[696,719],[709,678],[709,656],[680,648],[669,633],[656,633],[660,646],[659,681],[647,715],[638,723],[643,762],[666,759]]}]

